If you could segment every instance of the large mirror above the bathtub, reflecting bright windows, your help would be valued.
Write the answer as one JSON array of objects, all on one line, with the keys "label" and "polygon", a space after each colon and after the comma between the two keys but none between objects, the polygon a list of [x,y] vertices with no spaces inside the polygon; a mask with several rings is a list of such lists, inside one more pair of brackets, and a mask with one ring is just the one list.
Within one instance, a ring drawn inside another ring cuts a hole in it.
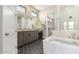
[{"label": "large mirror above the bathtub, reflecting bright windows", "polygon": [[50,15],[55,22],[53,30],[79,30],[79,6],[57,6]]}]

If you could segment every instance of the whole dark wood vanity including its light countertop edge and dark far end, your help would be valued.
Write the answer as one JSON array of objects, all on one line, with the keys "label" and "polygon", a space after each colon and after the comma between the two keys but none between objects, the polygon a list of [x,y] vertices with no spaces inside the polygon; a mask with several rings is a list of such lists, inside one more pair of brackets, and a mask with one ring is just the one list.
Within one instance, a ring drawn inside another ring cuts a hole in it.
[{"label": "whole dark wood vanity including its light countertop edge and dark far end", "polygon": [[18,46],[28,44],[42,38],[42,31],[39,30],[18,30],[17,39]]}]

